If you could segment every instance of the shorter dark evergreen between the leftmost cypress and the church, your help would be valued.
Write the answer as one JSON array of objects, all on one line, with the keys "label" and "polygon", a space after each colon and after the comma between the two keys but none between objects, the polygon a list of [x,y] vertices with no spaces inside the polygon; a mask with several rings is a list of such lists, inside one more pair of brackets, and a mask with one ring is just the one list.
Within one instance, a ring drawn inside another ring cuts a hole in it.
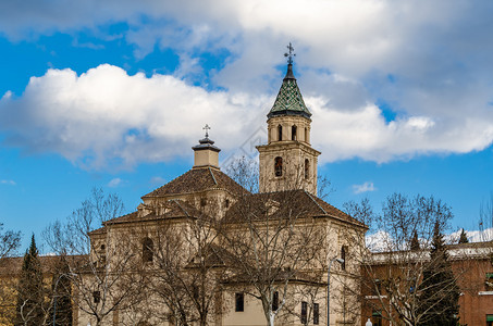
[{"label": "shorter dark evergreen between the leftmost cypress and the church", "polygon": [[53,321],[53,312],[56,312],[57,326],[69,326],[72,325],[72,287],[69,277],[69,265],[65,258],[62,255],[54,266],[56,273],[51,281],[52,290],[52,305],[50,308],[49,322],[50,325]]}]

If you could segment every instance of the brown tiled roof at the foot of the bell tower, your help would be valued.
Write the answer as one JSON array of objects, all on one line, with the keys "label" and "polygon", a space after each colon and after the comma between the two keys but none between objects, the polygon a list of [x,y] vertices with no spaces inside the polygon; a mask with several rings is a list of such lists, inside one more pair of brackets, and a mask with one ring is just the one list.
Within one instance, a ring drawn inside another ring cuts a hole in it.
[{"label": "brown tiled roof at the foot of the bell tower", "polygon": [[[331,216],[341,221],[365,227],[362,223],[343,211],[326,203],[322,199],[305,190],[287,190],[256,193],[242,197],[226,213],[226,222],[236,222],[244,216],[245,211],[258,218],[272,210],[272,217],[282,217],[287,212],[298,216]],[[238,221],[239,222],[239,221]]]}]

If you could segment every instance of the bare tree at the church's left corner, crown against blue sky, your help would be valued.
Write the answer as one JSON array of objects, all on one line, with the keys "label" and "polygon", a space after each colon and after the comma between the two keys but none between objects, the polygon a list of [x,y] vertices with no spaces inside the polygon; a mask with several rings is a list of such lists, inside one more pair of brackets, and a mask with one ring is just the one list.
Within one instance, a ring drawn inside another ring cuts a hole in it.
[{"label": "bare tree at the church's left corner, crown against blue sky", "polygon": [[[138,301],[141,277],[136,252],[128,250],[133,237],[112,223],[123,203],[115,195],[94,189],[91,197],[65,223],[56,222],[44,231],[49,247],[65,255],[78,309],[100,325],[111,313]],[[95,229],[102,225],[101,228]]]}]

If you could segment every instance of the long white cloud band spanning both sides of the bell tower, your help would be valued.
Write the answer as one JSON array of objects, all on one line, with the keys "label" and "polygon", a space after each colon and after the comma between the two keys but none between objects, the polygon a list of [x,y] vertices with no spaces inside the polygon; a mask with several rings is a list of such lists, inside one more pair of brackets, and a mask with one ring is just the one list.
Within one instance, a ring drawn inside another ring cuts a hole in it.
[{"label": "long white cloud band spanning both sides of the bell tower", "polygon": [[[207,91],[171,75],[128,76],[109,64],[81,76],[71,70],[49,70],[32,77],[21,97],[10,92],[2,97],[0,129],[11,146],[32,153],[56,152],[82,167],[104,170],[176,156],[192,161],[190,146],[208,123],[224,159],[266,126],[273,96]],[[313,113],[311,139],[322,151],[322,163],[464,153],[482,150],[493,139],[492,113],[407,115],[386,122],[371,103],[338,109],[328,97],[305,100]]]}]

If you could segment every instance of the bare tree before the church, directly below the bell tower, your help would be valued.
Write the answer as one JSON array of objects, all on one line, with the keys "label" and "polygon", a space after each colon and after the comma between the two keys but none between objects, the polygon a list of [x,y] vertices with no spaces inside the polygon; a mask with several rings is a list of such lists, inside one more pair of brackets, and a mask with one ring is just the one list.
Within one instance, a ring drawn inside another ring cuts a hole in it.
[{"label": "bare tree before the church, directly below the bell tower", "polygon": [[234,279],[261,301],[268,325],[294,296],[291,285],[326,256],[325,227],[307,210],[307,196],[303,190],[244,196],[226,215],[223,246]]}]

